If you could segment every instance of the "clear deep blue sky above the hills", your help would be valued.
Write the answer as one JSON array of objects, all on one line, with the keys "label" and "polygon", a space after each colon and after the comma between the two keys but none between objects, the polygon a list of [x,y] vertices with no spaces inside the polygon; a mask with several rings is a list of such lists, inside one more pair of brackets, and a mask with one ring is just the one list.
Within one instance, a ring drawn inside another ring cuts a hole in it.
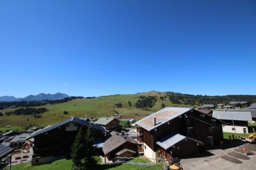
[{"label": "clear deep blue sky above the hills", "polygon": [[256,95],[256,1],[0,1],[0,96]]}]

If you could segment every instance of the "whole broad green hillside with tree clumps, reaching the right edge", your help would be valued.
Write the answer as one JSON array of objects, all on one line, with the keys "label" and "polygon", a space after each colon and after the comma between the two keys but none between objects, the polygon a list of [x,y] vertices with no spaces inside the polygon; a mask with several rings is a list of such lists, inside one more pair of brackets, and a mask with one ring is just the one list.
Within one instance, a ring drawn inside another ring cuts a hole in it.
[{"label": "whole broad green hillside with tree clumps, reaching the right edge", "polygon": [[[137,104],[137,107],[141,108],[135,107],[138,100],[141,102]],[[0,128],[6,125],[20,128],[28,125],[47,126],[71,116],[110,117],[117,112],[122,114],[123,118],[138,120],[146,116],[145,114],[159,111],[162,107],[197,107],[201,104],[228,104],[230,101],[249,101],[249,103],[254,103],[256,102],[256,95],[202,96],[150,91],[131,95],[109,95],[93,99],[75,99],[65,103],[40,106],[48,109],[47,112],[41,113],[41,118],[34,118],[34,115],[16,116],[10,114],[11,116],[6,116],[6,112],[14,111],[17,108],[2,110],[0,112],[4,116],[0,116]],[[64,111],[69,114],[63,114]]]}]

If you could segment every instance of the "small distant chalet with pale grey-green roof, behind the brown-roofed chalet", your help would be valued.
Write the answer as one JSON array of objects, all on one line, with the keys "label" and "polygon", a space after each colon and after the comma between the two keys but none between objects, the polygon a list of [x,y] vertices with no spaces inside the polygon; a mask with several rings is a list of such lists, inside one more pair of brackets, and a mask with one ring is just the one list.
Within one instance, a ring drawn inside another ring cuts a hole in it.
[{"label": "small distant chalet with pale grey-green roof, behind the brown-roofed chalet", "polygon": [[121,130],[122,126],[120,121],[112,117],[101,117],[96,122],[96,124],[104,126],[106,130]]}]

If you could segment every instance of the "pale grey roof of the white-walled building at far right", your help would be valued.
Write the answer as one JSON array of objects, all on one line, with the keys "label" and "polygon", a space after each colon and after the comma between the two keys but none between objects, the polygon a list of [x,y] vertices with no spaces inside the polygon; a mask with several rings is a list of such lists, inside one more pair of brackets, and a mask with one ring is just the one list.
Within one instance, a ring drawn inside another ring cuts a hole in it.
[{"label": "pale grey roof of the white-walled building at far right", "polygon": [[213,111],[212,117],[220,120],[252,121],[250,112]]}]

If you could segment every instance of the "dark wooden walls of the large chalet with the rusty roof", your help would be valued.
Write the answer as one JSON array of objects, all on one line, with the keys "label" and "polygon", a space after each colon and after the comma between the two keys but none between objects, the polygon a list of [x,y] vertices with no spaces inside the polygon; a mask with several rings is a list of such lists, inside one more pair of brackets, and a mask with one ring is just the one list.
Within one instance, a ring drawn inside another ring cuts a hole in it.
[{"label": "dark wooden walls of the large chalet with the rusty roof", "polygon": [[[223,140],[221,122],[216,120],[216,118],[196,111],[195,109],[192,109],[192,112],[184,113],[151,131],[147,131],[141,127],[139,128],[139,131],[141,131],[140,134],[143,134],[140,137],[143,139],[142,141],[153,151],[158,151],[158,156],[161,154],[170,154],[170,150],[163,152],[161,151],[161,148],[156,145],[156,142],[158,142],[159,139],[170,133],[177,133],[195,139],[199,141],[199,143],[203,143],[201,144],[203,146],[219,145],[220,141]],[[179,149],[171,149],[172,155],[180,156],[195,154],[199,150],[197,143],[191,140],[187,140],[186,142],[182,141],[179,145]]]}]

